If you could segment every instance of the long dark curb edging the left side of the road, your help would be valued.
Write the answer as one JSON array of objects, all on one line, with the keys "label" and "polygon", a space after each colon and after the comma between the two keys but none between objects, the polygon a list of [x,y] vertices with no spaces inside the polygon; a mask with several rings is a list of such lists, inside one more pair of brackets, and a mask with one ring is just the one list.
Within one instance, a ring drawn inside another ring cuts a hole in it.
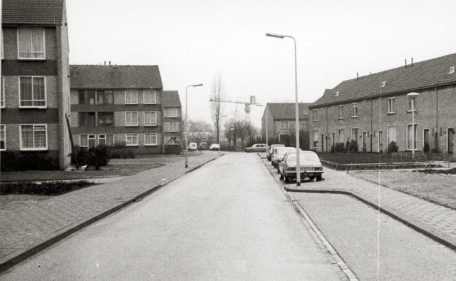
[{"label": "long dark curb edging the left side of the road", "polygon": [[135,203],[138,200],[142,200],[143,198],[147,197],[147,195],[150,195],[150,194],[154,193],[155,191],[160,190],[160,188],[164,187],[165,185],[168,185],[169,183],[172,183],[174,180],[177,180],[177,178],[182,177],[182,175],[187,175],[187,173],[191,173],[194,170],[201,168],[203,165],[222,157],[223,155],[224,154],[219,155],[219,157],[217,157],[217,158],[213,158],[211,160],[208,160],[207,162],[199,164],[196,167],[191,168],[190,170],[187,170],[184,173],[177,175],[174,178],[171,178],[170,180],[165,181],[165,183],[155,185],[153,188],[150,188],[150,190],[146,190],[145,192],[140,193],[139,195],[136,195],[133,199],[120,203],[119,205],[115,206],[114,208],[110,208],[109,210],[105,210],[103,213],[95,215],[95,217],[89,218],[88,220],[84,221],[83,223],[79,223],[78,225],[68,226],[67,228],[65,228],[65,230],[63,230],[63,233],[53,236],[50,239],[48,239],[44,242],[41,242],[40,244],[38,244],[34,247],[31,247],[30,249],[25,250],[24,252],[21,252],[19,255],[16,255],[15,257],[12,257],[11,259],[6,260],[5,262],[2,262],[0,264],[0,273],[4,272],[6,270],[9,270],[11,267],[14,267],[14,265],[19,264],[19,262],[22,262],[22,261],[28,259],[28,257],[31,257],[31,256],[37,254],[38,252],[41,252],[42,250],[55,244],[56,242],[63,240],[63,238],[66,238],[66,237],[72,235],[73,233],[76,233],[79,230],[86,228],[88,225],[96,223],[96,222],[98,222],[98,220],[102,220],[103,218],[108,217],[108,215],[112,215],[113,213],[115,213],[119,210],[122,210],[123,208],[127,207],[128,205],[130,205],[132,203]]}]

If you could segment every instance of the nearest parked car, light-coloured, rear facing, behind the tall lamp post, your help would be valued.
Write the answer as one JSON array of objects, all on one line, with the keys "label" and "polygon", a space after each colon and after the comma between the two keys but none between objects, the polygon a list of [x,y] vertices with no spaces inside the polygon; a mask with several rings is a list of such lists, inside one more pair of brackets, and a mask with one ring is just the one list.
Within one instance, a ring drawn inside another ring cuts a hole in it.
[{"label": "nearest parked car, light-coloured, rear facing, behind the tall lamp post", "polygon": [[[286,153],[284,160],[279,164],[280,179],[285,183],[290,180],[296,179],[296,155],[297,153]],[[301,172],[301,179],[309,178],[321,181],[323,174],[323,166],[321,165],[320,158],[313,151],[302,151],[299,153],[299,167]]]}]

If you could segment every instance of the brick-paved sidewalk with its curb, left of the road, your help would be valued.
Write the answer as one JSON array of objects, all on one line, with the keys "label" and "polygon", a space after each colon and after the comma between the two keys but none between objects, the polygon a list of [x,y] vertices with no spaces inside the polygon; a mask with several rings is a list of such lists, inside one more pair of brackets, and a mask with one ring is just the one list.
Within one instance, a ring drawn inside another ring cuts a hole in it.
[{"label": "brick-paved sidewalk with its curb, left of the road", "polygon": [[187,169],[185,160],[180,160],[112,183],[2,206],[0,272],[220,155],[189,158]]}]

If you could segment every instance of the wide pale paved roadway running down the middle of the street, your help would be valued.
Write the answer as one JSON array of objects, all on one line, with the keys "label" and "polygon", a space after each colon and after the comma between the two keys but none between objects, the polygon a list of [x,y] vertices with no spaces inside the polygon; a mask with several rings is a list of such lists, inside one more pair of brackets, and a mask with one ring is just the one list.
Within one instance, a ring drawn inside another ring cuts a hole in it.
[{"label": "wide pale paved roadway running down the middle of the street", "polygon": [[89,279],[339,277],[258,156],[231,153],[0,275]]}]

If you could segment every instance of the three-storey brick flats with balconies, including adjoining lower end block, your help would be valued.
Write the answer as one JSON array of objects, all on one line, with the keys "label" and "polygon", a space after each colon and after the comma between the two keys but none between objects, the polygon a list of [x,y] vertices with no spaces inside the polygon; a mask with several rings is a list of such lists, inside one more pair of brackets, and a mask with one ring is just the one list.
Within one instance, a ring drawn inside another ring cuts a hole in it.
[{"label": "three-storey brick flats with balconies, including adjoining lower end block", "polygon": [[71,66],[74,143],[163,153],[180,141],[173,137],[180,138],[181,113],[177,91],[162,88],[158,66]]}]

